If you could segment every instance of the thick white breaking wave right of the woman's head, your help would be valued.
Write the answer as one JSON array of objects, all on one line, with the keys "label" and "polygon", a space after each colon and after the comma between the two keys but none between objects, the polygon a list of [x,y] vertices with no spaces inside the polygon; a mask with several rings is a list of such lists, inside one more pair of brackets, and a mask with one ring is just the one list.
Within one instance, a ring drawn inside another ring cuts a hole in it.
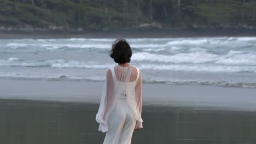
[{"label": "thick white breaking wave right of the woman's head", "polygon": [[226,55],[217,55],[203,50],[189,50],[189,53],[160,55],[149,52],[133,54],[132,61],[164,62],[164,63],[207,63],[225,65],[256,65],[256,52],[229,51]]}]

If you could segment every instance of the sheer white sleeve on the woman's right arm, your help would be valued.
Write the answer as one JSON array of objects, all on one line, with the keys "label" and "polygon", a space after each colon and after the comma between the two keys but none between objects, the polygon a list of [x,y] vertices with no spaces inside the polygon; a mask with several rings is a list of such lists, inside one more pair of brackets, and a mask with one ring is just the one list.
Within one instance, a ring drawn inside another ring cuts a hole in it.
[{"label": "sheer white sleeve on the woman's right arm", "polygon": [[141,76],[141,70],[139,70],[139,77],[136,82],[135,86],[135,97],[136,97],[136,103],[137,103],[137,111],[139,115],[139,121],[137,121],[135,128],[143,128],[142,125],[142,118],[141,118],[141,113],[142,113],[142,76]]}]

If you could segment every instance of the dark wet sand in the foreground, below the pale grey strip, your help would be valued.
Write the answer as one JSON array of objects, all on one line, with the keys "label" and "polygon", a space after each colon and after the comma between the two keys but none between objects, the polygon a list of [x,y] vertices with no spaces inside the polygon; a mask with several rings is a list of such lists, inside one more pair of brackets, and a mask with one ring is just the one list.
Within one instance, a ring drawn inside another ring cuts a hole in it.
[{"label": "dark wet sand in the foreground, below the pale grey strip", "polygon": [[[98,105],[0,99],[0,143],[102,143]],[[256,112],[143,106],[132,143],[256,143]]]}]

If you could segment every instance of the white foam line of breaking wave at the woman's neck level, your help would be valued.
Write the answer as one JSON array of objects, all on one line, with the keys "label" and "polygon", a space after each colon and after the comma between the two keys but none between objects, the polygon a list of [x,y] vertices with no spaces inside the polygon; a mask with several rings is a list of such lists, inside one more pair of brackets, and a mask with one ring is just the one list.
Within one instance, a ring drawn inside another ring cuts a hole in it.
[{"label": "white foam line of breaking wave at the woman's neck level", "polygon": [[[85,69],[107,69],[114,67],[114,64],[89,64],[86,62],[68,61],[65,63],[54,63],[52,68],[85,68]],[[138,67],[142,70],[171,70],[171,71],[196,71],[208,73],[256,73],[256,66],[226,66],[212,64],[139,64]]]}]

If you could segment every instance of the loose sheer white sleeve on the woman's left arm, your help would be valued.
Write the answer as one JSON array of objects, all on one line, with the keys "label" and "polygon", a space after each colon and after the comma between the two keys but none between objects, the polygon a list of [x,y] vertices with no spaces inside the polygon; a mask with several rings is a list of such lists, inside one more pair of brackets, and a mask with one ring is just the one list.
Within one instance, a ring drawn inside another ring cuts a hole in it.
[{"label": "loose sheer white sleeve on the woman's left arm", "polygon": [[96,121],[100,123],[98,130],[102,131],[103,133],[108,131],[109,126],[107,123],[107,114],[109,107],[113,101],[113,89],[114,89],[114,82],[111,70],[107,70],[106,79],[103,86],[103,91],[101,95],[101,102],[100,107],[98,109],[98,113],[96,115]]}]

